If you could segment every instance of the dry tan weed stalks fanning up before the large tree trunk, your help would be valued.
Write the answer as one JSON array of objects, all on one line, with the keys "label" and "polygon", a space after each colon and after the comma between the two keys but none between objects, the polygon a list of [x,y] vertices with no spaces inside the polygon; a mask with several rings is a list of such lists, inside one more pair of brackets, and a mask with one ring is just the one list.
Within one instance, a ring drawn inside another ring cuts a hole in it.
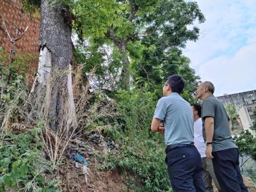
[{"label": "dry tan weed stalks fanning up before the large tree trunk", "polygon": [[[68,98],[67,92],[63,92],[63,90],[61,93],[66,94],[63,95],[63,115],[58,117],[58,123],[60,126],[56,131],[52,131],[49,124],[47,124],[47,119],[44,120],[45,124],[44,129],[41,131],[41,138],[44,143],[44,150],[49,159],[51,159],[54,167],[60,163],[61,157],[63,157],[65,150],[70,145],[70,141],[75,140],[78,135],[81,136],[81,134],[83,134],[83,132],[86,131],[86,128],[90,125],[93,125],[93,127],[95,127],[95,131],[99,133],[102,150],[107,152],[106,142],[100,132],[102,129],[109,128],[110,125],[97,126],[96,122],[100,118],[110,118],[118,115],[118,113],[115,113],[114,111],[115,108],[113,102],[108,101],[103,103],[100,99],[97,102],[94,102],[95,95],[90,93],[90,84],[83,83],[83,74],[81,71],[81,68],[78,67],[74,72],[75,77],[74,83],[72,84],[76,108],[76,123],[70,126],[67,124],[66,118],[69,113],[68,108],[70,105],[68,102],[65,102]],[[60,81],[65,74],[67,74],[67,71],[63,71],[62,73],[52,72],[52,82],[50,84],[60,83],[58,81]],[[60,86],[60,88],[63,87]],[[42,90],[43,89],[40,90],[40,95],[49,95],[49,93],[42,93]],[[36,102],[40,102],[40,100],[42,101],[42,98],[36,98],[35,100],[37,100]],[[34,106],[40,106],[40,103],[35,103]],[[42,109],[42,106],[40,108]],[[35,115],[36,112],[38,111],[33,112],[33,114]],[[43,114],[45,115],[45,112],[40,111],[40,113],[37,113],[37,116],[42,118]]]}]

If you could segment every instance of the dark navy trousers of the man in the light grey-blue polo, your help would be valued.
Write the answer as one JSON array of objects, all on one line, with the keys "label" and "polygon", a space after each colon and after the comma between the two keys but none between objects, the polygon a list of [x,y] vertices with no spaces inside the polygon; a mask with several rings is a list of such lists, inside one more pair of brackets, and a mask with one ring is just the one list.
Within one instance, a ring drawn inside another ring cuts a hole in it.
[{"label": "dark navy trousers of the man in the light grey-blue polo", "polygon": [[194,145],[166,148],[166,163],[174,192],[205,192],[202,160]]}]

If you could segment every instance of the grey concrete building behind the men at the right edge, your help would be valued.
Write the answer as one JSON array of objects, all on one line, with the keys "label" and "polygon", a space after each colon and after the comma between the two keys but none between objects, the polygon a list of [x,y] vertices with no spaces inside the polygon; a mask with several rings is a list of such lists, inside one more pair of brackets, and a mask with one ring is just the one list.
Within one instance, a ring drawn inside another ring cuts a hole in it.
[{"label": "grey concrete building behind the men at the right edge", "polygon": [[256,109],[256,90],[230,95],[225,94],[216,98],[224,105],[231,104],[236,106],[239,121],[243,125],[243,129],[250,130],[254,122],[253,111]]}]

